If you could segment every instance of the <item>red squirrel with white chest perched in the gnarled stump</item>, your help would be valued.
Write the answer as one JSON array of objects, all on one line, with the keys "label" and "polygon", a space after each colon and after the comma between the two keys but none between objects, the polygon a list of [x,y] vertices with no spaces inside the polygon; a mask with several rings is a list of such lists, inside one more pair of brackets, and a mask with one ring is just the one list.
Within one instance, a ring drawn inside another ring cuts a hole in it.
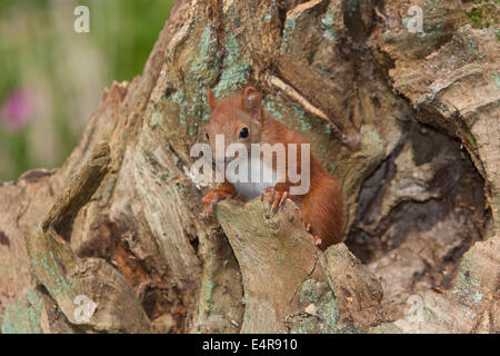
[{"label": "red squirrel with white chest perched in the gnarled stump", "polygon": [[[212,152],[216,151],[216,135],[223,135],[226,146],[229,144],[270,144],[288,145],[308,144],[307,139],[273,118],[262,107],[261,95],[253,86],[247,86],[242,92],[217,100],[212,90],[207,89],[208,102],[211,108],[210,121],[207,126],[207,137]],[[226,147],[224,147],[226,149]],[[301,159],[298,151],[297,166],[300,170]],[[273,169],[276,168],[276,159]],[[298,184],[296,184],[298,185]],[[202,198],[203,214],[213,214],[213,206],[228,198],[250,199],[259,194],[267,198],[271,212],[282,206],[286,199],[291,199],[300,206],[306,229],[314,236],[316,244],[324,250],[332,244],[343,239],[343,198],[337,180],[328,174],[318,160],[310,156],[310,188],[303,195],[291,195],[288,174],[282,182],[269,187],[251,182],[231,184],[224,180]],[[261,191],[258,191],[260,190]]]}]

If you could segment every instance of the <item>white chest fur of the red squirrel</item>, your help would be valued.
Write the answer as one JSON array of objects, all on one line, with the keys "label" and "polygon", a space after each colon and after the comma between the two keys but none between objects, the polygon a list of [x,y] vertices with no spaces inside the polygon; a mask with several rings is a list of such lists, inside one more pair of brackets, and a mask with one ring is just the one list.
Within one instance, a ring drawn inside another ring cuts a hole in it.
[{"label": "white chest fur of the red squirrel", "polygon": [[[250,159],[246,162],[248,178],[244,179],[244,162],[239,165],[238,169],[232,169],[230,165],[226,170],[226,178],[233,184],[238,194],[249,200],[259,196],[262,190],[276,186],[278,175],[260,159]],[[240,170],[243,169],[243,170]]]}]

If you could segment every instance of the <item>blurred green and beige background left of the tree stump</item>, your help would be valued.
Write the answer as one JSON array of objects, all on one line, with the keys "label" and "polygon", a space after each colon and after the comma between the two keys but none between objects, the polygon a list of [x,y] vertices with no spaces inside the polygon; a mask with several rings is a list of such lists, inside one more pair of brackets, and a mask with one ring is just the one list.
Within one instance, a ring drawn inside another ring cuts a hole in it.
[{"label": "blurred green and beige background left of the tree stump", "polygon": [[[140,75],[174,0],[0,0],[0,181],[60,166],[112,80]],[[90,33],[77,33],[77,6]]]}]

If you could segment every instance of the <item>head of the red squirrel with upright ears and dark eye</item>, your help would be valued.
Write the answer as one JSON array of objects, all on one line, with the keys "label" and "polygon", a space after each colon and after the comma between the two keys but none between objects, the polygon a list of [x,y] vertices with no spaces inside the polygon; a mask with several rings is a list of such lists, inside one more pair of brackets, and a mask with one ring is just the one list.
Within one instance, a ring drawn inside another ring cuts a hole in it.
[{"label": "head of the red squirrel with upright ears and dark eye", "polygon": [[242,144],[250,152],[251,144],[261,142],[264,112],[257,88],[248,85],[240,93],[219,100],[208,88],[207,97],[211,109],[207,136],[212,152],[216,154],[216,135],[223,135],[224,152],[230,144]]}]

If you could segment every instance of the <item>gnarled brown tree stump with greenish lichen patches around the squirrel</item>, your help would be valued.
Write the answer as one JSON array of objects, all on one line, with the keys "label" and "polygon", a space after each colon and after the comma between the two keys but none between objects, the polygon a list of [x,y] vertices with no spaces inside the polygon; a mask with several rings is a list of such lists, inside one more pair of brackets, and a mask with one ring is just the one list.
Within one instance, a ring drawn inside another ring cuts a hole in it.
[{"label": "gnarled brown tree stump with greenish lichen patches around the squirrel", "polygon": [[[401,0],[178,1],[63,167],[0,184],[1,332],[499,332],[499,41],[412,4],[423,33]],[[248,81],[339,179],[346,244],[291,201],[200,217],[204,88]]]}]

